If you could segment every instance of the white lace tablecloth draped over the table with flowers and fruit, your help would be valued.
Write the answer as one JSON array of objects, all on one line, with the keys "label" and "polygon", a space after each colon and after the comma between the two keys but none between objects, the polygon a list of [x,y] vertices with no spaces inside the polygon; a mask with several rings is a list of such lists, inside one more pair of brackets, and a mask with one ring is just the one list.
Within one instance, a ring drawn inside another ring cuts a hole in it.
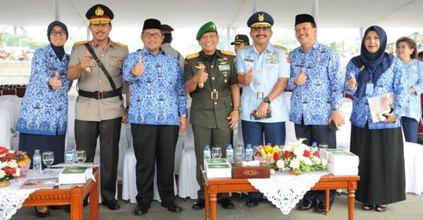
[{"label": "white lace tablecloth draped over the table with flowers and fruit", "polygon": [[321,176],[329,174],[328,171],[303,172],[293,176],[285,172],[276,172],[270,178],[248,179],[260,193],[263,193],[271,203],[276,205],[283,214],[289,214],[295,204],[312,188]]}]

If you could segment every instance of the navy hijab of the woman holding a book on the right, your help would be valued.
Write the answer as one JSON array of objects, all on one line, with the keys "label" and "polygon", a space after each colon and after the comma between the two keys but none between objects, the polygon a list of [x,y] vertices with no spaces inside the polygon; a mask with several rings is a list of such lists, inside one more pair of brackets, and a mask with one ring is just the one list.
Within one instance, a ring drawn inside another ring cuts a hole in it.
[{"label": "navy hijab of the woman holding a book on the right", "polygon": [[[379,49],[374,54],[369,53],[364,45],[367,34],[372,30],[379,35],[380,39]],[[373,71],[373,85],[376,85],[376,82],[382,73],[391,66],[393,55],[385,52],[386,41],[386,32],[382,29],[382,27],[374,25],[367,28],[362,39],[360,56],[355,56],[351,60],[357,68],[360,68],[360,73],[358,73],[357,77],[357,97],[360,99],[364,97],[364,94],[366,93],[366,85],[367,82],[370,81],[370,69]]]}]

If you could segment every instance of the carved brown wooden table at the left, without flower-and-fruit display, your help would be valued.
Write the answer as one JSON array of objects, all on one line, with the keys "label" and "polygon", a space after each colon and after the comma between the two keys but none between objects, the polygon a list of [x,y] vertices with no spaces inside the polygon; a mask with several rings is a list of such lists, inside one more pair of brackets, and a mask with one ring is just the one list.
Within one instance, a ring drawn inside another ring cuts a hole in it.
[{"label": "carved brown wooden table at the left, without flower-and-fruit display", "polygon": [[82,200],[90,194],[90,220],[99,219],[99,168],[93,168],[94,178],[85,184],[76,184],[71,189],[59,189],[57,186],[51,190],[37,190],[31,193],[23,202],[23,207],[71,205],[71,220],[84,218]]}]

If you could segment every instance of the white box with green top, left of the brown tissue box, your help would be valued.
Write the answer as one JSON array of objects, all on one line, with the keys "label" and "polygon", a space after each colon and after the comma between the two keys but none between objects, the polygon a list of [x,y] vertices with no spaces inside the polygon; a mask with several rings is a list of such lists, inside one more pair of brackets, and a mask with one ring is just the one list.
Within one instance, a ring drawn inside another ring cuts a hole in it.
[{"label": "white box with green top, left of the brown tissue box", "polygon": [[204,159],[207,178],[232,178],[232,166],[226,158]]}]

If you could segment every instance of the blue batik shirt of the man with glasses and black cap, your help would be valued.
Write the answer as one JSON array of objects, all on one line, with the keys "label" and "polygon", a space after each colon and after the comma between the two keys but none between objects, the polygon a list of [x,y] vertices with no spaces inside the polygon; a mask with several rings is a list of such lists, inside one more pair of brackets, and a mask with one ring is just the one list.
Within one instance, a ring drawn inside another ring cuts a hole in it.
[{"label": "blue batik shirt of the man with glasses and black cap", "polygon": [[[132,74],[142,56],[144,73]],[[175,57],[147,49],[131,53],[123,63],[123,79],[129,82],[129,123],[178,126],[179,116],[187,115],[183,73]]]}]

